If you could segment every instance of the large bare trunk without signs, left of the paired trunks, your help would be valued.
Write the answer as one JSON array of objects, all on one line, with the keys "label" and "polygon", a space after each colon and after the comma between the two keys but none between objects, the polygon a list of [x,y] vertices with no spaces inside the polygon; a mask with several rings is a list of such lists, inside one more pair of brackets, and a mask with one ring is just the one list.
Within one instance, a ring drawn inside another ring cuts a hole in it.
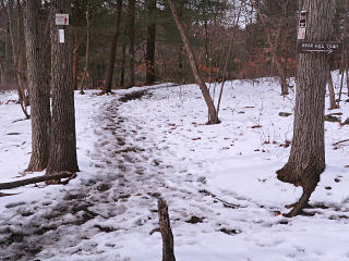
[{"label": "large bare trunk without signs, left of the paired trunks", "polygon": [[45,170],[49,154],[50,96],[48,72],[45,65],[45,44],[41,37],[43,18],[41,1],[27,1],[25,42],[32,114],[32,157],[28,171]]}]

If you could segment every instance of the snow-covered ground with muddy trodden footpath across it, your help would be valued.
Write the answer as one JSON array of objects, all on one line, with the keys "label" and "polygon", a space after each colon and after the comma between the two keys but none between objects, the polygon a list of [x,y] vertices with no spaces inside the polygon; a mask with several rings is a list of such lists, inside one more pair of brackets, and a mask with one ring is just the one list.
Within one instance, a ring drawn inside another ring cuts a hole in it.
[{"label": "snow-covered ground with muddy trodden footpath across it", "polygon": [[[286,219],[301,189],[275,174],[293,122],[279,112],[294,103],[277,82],[228,83],[213,126],[195,85],[96,92],[75,95],[77,178],[1,191],[15,195],[0,197],[0,260],[161,260],[160,235],[149,235],[158,195],[169,204],[177,260],[349,260],[349,144],[333,146],[349,138],[349,125],[325,123],[327,167],[313,208]],[[31,126],[10,99],[0,95],[1,182],[43,174],[24,175]],[[344,122],[341,105],[330,113]]]}]

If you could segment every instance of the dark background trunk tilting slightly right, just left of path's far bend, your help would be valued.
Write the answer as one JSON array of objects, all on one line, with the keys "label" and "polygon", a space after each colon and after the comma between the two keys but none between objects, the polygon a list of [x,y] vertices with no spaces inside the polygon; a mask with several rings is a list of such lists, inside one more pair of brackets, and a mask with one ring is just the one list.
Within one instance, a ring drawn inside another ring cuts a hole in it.
[{"label": "dark background trunk tilting slightly right, just left of path's far bend", "polygon": [[121,11],[122,11],[122,0],[118,0],[117,15],[116,15],[116,32],[112,36],[112,40],[110,45],[109,62],[107,65],[107,74],[106,74],[106,80],[105,80],[106,83],[105,92],[111,92],[113,66],[116,63],[118,39],[120,35]]}]

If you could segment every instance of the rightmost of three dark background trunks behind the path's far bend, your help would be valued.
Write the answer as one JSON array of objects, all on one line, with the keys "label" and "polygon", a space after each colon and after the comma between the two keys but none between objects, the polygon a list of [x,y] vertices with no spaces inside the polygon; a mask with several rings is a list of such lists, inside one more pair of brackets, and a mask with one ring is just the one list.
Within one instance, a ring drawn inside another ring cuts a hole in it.
[{"label": "rightmost of three dark background trunks behind the path's far bend", "polygon": [[148,0],[148,27],[146,42],[146,84],[155,82],[155,38],[156,38],[156,0]]}]

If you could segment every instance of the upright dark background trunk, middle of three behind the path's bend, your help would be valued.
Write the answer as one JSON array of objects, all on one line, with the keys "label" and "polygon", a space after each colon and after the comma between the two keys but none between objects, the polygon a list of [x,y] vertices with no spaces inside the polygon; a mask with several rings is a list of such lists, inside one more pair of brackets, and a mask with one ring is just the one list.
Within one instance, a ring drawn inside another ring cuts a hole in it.
[{"label": "upright dark background trunk, middle of three behind the path's bend", "polygon": [[134,18],[135,18],[135,0],[129,0],[128,8],[128,34],[129,34],[129,77],[128,88],[134,86]]}]

